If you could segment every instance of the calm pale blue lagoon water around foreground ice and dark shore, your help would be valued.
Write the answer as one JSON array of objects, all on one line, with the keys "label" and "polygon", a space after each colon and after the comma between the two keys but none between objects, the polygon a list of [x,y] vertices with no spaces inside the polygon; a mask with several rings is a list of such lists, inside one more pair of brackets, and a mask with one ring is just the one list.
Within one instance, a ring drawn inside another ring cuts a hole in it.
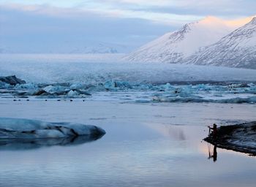
[{"label": "calm pale blue lagoon water around foreground ice and dark shore", "polygon": [[[256,120],[255,104],[0,101],[0,117],[94,124],[78,145],[0,146],[0,186],[255,186],[256,159],[202,142],[211,123]],[[210,152],[210,153],[209,153]]]}]

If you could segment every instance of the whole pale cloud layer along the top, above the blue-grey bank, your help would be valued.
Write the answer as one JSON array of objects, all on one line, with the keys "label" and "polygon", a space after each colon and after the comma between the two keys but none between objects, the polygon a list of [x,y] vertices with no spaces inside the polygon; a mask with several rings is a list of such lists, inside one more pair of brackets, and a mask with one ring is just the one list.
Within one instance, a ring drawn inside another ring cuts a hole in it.
[{"label": "whole pale cloud layer along the top, above the blue-grey bank", "polygon": [[59,17],[138,18],[159,24],[183,25],[206,15],[238,18],[255,15],[254,0],[0,0],[1,6]]}]

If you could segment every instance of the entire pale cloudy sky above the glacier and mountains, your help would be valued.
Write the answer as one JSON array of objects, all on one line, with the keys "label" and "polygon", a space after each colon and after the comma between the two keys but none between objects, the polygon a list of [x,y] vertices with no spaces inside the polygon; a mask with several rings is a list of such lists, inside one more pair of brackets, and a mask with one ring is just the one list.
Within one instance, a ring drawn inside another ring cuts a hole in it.
[{"label": "entire pale cloudy sky above the glacier and mountains", "polygon": [[0,0],[0,47],[143,45],[207,15],[244,18],[255,0]]}]

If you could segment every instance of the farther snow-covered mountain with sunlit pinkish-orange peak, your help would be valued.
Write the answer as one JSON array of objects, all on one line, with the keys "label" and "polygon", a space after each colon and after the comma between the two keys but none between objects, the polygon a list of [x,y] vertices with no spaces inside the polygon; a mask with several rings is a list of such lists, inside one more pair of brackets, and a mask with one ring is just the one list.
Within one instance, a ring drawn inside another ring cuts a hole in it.
[{"label": "farther snow-covered mountain with sunlit pinkish-orange peak", "polygon": [[202,47],[212,45],[252,18],[221,20],[206,17],[189,23],[180,30],[167,33],[124,57],[125,61],[181,63]]}]

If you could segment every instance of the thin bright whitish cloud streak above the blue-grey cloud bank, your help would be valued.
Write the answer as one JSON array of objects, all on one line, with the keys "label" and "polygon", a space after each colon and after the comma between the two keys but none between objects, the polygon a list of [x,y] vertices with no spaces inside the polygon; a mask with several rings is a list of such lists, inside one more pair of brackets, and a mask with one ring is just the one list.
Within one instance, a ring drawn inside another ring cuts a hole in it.
[{"label": "thin bright whitish cloud streak above the blue-grey cloud bank", "polygon": [[151,20],[159,24],[176,25],[181,26],[184,23],[192,20],[198,20],[201,16],[195,15],[178,15],[165,12],[150,12],[146,10],[135,9],[118,9],[118,8],[105,8],[102,9],[97,6],[91,7],[72,7],[72,8],[60,8],[53,7],[48,4],[42,5],[23,5],[23,4],[3,4],[2,9],[15,9],[24,12],[32,12],[34,14],[49,15],[62,18],[83,18],[84,16],[99,15],[102,17],[113,18],[138,18],[144,20]]}]

